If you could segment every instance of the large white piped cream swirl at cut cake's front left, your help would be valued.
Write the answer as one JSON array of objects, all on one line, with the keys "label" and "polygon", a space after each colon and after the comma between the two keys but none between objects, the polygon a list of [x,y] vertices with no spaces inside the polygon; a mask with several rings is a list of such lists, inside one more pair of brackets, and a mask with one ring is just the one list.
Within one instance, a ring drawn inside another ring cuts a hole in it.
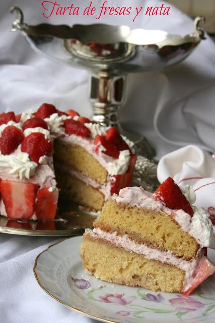
[{"label": "large white piped cream swirl at cut cake's front left", "polygon": [[29,159],[27,152],[20,152],[17,155],[0,154],[0,167],[11,169],[10,174],[23,180],[24,178],[29,179],[34,174],[37,163]]}]

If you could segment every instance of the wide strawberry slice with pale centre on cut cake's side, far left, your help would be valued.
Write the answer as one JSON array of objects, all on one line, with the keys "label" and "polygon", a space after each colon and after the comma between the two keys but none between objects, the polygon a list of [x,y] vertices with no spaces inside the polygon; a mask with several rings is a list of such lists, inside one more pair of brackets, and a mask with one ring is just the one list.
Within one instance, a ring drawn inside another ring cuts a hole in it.
[{"label": "wide strawberry slice with pale centre on cut cake's side, far left", "polygon": [[0,190],[9,219],[29,220],[34,213],[38,186],[2,181]]}]

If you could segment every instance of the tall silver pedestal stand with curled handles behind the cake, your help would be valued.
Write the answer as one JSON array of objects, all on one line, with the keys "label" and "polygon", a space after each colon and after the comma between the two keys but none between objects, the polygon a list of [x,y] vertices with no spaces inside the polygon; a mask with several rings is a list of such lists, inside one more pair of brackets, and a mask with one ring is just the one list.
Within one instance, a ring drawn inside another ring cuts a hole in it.
[{"label": "tall silver pedestal stand with curled handles behind the cake", "polygon": [[135,143],[139,155],[134,182],[154,191],[158,185],[156,163],[151,160],[155,149],[141,134],[122,128],[118,111],[125,99],[128,73],[160,70],[186,59],[201,39],[203,17],[194,20],[194,31],[184,37],[163,30],[133,29],[127,26],[51,25],[24,23],[21,9],[12,31],[21,31],[31,47],[47,58],[90,70],[90,100],[94,121],[118,128]]}]

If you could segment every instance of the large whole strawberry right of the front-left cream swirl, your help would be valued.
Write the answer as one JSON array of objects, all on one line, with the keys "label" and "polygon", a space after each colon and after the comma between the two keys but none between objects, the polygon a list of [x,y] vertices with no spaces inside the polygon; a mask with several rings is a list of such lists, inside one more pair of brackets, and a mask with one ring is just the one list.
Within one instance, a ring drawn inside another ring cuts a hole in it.
[{"label": "large whole strawberry right of the front-left cream swirl", "polygon": [[21,150],[27,152],[31,160],[38,163],[41,156],[48,156],[53,152],[53,145],[45,139],[44,134],[33,132],[24,138]]}]

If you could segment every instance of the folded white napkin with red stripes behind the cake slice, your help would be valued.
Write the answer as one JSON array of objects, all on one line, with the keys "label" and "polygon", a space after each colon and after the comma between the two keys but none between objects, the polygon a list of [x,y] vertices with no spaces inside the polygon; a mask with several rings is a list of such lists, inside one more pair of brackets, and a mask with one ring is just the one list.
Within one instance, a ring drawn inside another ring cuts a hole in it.
[{"label": "folded white napkin with red stripes behind the cake slice", "polygon": [[194,145],[175,150],[161,158],[157,176],[159,182],[171,176],[179,185],[190,184],[194,205],[206,209],[215,224],[215,161],[209,154]]}]

